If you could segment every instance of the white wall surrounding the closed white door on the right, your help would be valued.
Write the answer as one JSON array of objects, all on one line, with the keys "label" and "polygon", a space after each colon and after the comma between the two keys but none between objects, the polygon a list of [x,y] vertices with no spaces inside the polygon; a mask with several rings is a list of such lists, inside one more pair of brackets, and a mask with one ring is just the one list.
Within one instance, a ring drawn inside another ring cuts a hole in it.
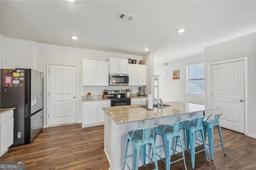
[{"label": "white wall surrounding the closed white door on the right", "polygon": [[218,43],[204,49],[205,60],[205,100],[209,103],[209,64],[232,59],[248,58],[248,117],[245,117],[245,132],[256,137],[256,32]]}]

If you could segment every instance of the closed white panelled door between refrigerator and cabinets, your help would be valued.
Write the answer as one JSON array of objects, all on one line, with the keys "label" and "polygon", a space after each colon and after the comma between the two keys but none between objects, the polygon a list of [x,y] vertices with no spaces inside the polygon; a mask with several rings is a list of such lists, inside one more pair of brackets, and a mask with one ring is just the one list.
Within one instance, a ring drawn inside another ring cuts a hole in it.
[{"label": "closed white panelled door between refrigerator and cabinets", "polygon": [[76,66],[49,65],[48,125],[76,123]]}]

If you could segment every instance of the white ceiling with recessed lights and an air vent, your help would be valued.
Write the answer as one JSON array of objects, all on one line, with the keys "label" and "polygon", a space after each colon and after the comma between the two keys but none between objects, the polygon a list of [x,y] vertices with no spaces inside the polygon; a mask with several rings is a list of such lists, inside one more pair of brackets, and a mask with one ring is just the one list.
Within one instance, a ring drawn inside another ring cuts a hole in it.
[{"label": "white ceiling with recessed lights and an air vent", "polygon": [[[118,20],[120,12],[135,18]],[[179,34],[179,28],[186,31]],[[157,63],[255,31],[256,1],[1,1],[5,37],[134,55],[154,52]]]}]

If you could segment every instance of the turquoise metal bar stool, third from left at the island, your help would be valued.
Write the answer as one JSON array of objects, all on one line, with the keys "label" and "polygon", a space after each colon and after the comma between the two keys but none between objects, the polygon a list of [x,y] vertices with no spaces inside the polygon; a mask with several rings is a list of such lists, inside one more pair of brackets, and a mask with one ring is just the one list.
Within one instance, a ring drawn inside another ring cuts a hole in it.
[{"label": "turquoise metal bar stool, third from left at the island", "polygon": [[[209,162],[207,152],[206,152],[205,138],[204,138],[204,132],[203,132],[203,126],[202,126],[202,121],[204,118],[205,118],[205,116],[195,117],[195,118],[192,118],[190,121],[184,121],[184,123],[182,125],[182,128],[186,129],[186,145],[187,145],[186,150],[188,152],[190,152],[191,164],[192,164],[193,169],[195,168],[195,154],[197,154],[199,152],[204,151],[206,161]],[[201,132],[203,146],[196,143],[196,131]],[[195,152],[195,144],[202,146],[203,149]],[[188,150],[189,145],[190,145],[190,151]],[[177,144],[176,144],[176,146],[177,146]],[[175,146],[175,150],[176,150],[176,146]]]}]

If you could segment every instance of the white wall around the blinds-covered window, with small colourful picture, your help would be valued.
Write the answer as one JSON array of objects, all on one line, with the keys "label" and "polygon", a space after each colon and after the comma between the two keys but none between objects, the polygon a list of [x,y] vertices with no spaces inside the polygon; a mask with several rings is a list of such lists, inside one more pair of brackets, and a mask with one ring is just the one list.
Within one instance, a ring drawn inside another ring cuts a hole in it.
[{"label": "white wall around the blinds-covered window, with small colourful picture", "polygon": [[[204,105],[204,96],[186,94],[186,65],[204,61],[204,54],[172,61],[168,65],[154,66],[154,75],[159,76],[159,98],[162,101],[182,101]],[[180,70],[180,79],[172,79],[172,70]],[[164,74],[167,71],[167,74]]]}]

